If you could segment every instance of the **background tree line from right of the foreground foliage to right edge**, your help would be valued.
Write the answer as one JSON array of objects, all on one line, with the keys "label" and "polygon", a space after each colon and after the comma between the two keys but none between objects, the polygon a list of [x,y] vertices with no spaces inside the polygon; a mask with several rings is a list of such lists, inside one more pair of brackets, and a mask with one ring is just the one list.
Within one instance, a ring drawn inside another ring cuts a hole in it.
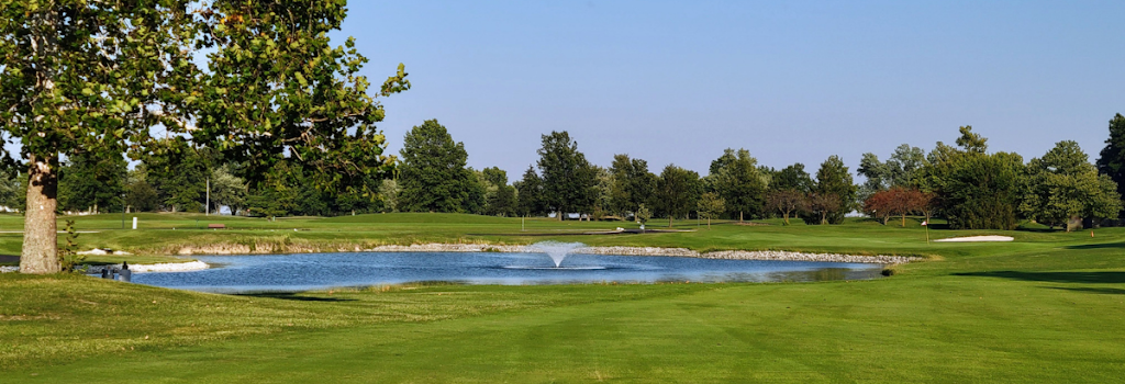
[{"label": "background tree line from right of the foreground foliage to right edge", "polygon": [[[441,145],[413,139],[429,130],[440,130]],[[542,136],[539,161],[508,186],[506,177],[483,177],[503,171],[466,167],[464,147],[431,120],[407,135],[399,174],[403,185],[417,185],[404,190],[400,199],[425,203],[402,209],[557,214],[561,220],[575,212],[584,218],[630,219],[645,207],[667,218],[669,226],[693,212],[839,223],[858,210],[884,223],[898,217],[903,226],[908,214],[942,216],[951,227],[965,229],[1012,229],[1020,219],[1073,226],[1078,218],[1117,218],[1122,211],[1120,181],[1113,179],[1125,174],[1125,118],[1119,115],[1110,121],[1109,146],[1097,167],[1074,141],[1061,141],[1025,163],[1018,154],[989,153],[987,138],[972,127],[961,127],[960,132],[955,146],[939,141],[928,154],[910,145],[896,148],[886,162],[864,154],[858,173],[866,181],[856,185],[837,156],[811,175],[800,163],[782,170],[759,165],[745,149],[724,150],[704,176],[674,164],[655,174],[647,162],[624,154],[615,155],[606,168],[591,164],[569,134],[552,131]],[[1114,156],[1119,159],[1112,161]],[[704,202],[704,195],[710,201]],[[704,205],[721,209],[704,210]]]}]

